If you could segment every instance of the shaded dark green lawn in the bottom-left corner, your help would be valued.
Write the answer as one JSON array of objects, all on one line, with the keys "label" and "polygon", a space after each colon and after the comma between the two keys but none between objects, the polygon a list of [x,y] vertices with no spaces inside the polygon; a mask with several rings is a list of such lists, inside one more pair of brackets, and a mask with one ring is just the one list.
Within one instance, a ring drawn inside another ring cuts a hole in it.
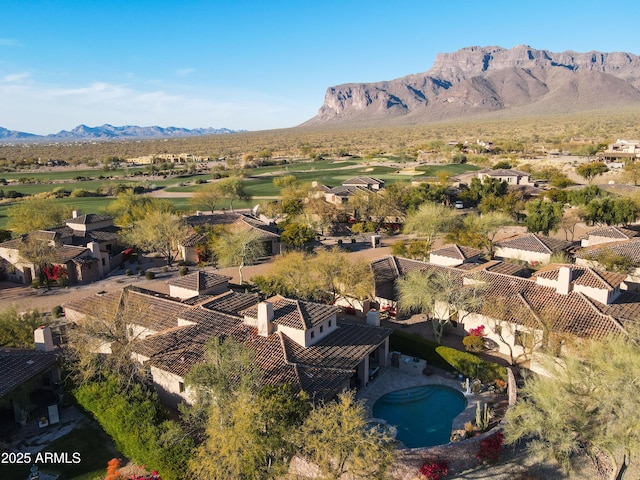
[{"label": "shaded dark green lawn in the bottom-left corner", "polygon": [[[114,457],[122,458],[113,441],[94,422],[78,425],[67,435],[54,440],[43,452],[66,453],[69,460],[74,452],[79,453],[79,463],[38,464],[40,472],[57,474],[61,479],[72,480],[104,478],[107,462]],[[35,459],[35,454],[32,454],[32,458]],[[0,477],[3,480],[27,479],[31,465],[2,465]]]}]

